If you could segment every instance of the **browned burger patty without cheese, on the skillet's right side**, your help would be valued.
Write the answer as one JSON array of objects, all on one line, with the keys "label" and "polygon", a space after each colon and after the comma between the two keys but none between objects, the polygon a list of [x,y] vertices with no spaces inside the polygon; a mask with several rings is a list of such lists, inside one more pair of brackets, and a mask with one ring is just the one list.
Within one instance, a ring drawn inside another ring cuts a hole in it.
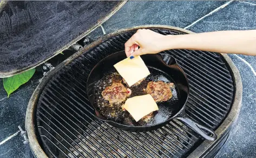
[{"label": "browned burger patty without cheese, on the skillet's right side", "polygon": [[174,83],[165,83],[163,81],[148,82],[146,93],[150,94],[155,102],[164,102],[172,98],[171,88],[174,88]]}]

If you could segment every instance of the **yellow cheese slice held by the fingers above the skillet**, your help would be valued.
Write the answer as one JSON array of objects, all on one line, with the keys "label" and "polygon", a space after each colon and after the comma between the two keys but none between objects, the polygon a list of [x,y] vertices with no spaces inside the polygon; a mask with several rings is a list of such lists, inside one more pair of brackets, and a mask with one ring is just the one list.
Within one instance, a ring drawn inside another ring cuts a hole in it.
[{"label": "yellow cheese slice held by the fingers above the skillet", "polygon": [[150,74],[140,56],[134,57],[132,60],[126,58],[116,63],[114,67],[129,86],[132,86]]}]

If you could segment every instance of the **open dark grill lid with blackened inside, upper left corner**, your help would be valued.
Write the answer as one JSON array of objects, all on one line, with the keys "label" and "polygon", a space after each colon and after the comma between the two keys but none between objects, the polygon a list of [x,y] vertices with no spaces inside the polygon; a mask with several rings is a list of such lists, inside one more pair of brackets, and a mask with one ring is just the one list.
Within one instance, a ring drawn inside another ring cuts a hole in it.
[{"label": "open dark grill lid with blackened inside, upper left corner", "polygon": [[36,67],[88,35],[120,1],[10,1],[0,4],[0,77]]}]

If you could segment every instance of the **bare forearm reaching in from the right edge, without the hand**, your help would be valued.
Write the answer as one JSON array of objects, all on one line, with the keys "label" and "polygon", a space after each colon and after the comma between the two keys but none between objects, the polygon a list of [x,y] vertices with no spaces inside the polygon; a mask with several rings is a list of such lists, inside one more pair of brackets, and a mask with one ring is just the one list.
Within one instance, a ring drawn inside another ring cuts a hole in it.
[{"label": "bare forearm reaching in from the right edge, without the hand", "polygon": [[256,55],[256,30],[166,36],[163,49],[191,49]]}]

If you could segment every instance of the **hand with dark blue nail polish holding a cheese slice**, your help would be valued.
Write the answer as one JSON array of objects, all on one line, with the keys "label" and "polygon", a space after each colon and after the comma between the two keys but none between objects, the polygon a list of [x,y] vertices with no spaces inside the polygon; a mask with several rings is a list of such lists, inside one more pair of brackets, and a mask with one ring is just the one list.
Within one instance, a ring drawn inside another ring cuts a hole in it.
[{"label": "hand with dark blue nail polish holding a cheese slice", "polygon": [[[139,29],[124,44],[126,56],[139,56],[143,54],[156,54],[162,50],[165,35],[158,34],[152,30]],[[140,49],[139,47],[140,46]]]}]

